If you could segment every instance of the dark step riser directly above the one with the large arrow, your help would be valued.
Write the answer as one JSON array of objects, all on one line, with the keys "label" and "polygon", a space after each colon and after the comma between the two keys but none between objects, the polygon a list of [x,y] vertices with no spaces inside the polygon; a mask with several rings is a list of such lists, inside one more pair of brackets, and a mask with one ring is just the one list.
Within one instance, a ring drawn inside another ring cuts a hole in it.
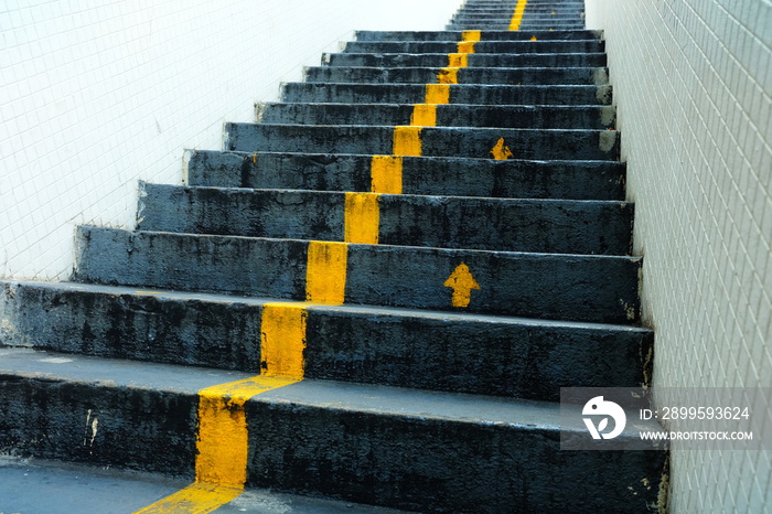
[{"label": "dark step riser directly above the one with the large arrow", "polygon": [[[283,239],[345,240],[351,193],[140,183],[137,228]],[[393,246],[628,255],[626,202],[358,195],[377,210],[377,242]],[[354,211],[356,212],[356,211]],[[361,242],[361,240],[360,240]]]}]

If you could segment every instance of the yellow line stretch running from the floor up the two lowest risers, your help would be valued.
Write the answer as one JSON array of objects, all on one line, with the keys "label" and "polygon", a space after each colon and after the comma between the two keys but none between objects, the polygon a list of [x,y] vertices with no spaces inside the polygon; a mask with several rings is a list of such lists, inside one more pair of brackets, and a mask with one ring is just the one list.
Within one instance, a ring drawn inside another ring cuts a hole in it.
[{"label": "yellow line stretch running from the floor up the two lowest risers", "polygon": [[195,482],[137,514],[206,514],[244,492],[249,458],[244,405],[260,393],[303,379],[307,318],[304,303],[262,307],[262,373],[199,392]]}]

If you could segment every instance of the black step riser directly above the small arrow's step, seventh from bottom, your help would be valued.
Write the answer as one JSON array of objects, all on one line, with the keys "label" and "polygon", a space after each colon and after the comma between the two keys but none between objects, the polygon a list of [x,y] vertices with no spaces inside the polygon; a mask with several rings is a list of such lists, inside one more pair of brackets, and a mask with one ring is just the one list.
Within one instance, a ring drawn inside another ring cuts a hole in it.
[{"label": "black step riser directly above the small arrow's step, seventh from bottom", "polygon": [[[257,121],[299,125],[409,124],[414,105],[395,104],[264,104]],[[615,126],[613,106],[487,106],[438,105],[438,127],[609,129]]]}]

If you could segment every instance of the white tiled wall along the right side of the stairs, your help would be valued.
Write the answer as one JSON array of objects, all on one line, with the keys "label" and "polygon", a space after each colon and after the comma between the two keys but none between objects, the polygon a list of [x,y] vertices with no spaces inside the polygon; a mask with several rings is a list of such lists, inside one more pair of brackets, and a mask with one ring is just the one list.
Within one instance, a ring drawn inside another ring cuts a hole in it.
[{"label": "white tiled wall along the right side of the stairs", "polygon": [[[772,4],[587,0],[587,14],[605,31],[654,386],[770,387]],[[751,400],[770,417],[766,395]],[[770,454],[674,451],[671,512],[772,512]]]}]

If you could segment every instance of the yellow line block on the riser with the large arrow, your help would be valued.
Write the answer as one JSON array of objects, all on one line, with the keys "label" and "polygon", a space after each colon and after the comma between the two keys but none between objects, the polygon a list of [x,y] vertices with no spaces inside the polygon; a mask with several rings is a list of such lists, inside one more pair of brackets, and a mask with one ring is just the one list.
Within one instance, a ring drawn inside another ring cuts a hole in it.
[{"label": "yellow line block on the riser with the large arrow", "polygon": [[305,299],[340,306],[345,300],[349,245],[312,240],[308,248]]}]

